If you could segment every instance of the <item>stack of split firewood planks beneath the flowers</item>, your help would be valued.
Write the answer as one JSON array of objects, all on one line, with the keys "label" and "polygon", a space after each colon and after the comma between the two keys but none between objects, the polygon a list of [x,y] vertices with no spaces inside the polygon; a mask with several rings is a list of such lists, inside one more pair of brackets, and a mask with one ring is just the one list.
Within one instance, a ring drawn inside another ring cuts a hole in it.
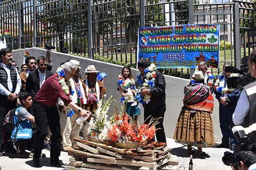
[{"label": "stack of split firewood planks beneath the flowers", "polygon": [[68,166],[97,170],[154,170],[168,164],[178,165],[178,161],[172,160],[166,143],[153,142],[134,149],[120,149],[88,140],[73,140],[77,141],[77,146],[64,148],[73,156],[65,170]]}]

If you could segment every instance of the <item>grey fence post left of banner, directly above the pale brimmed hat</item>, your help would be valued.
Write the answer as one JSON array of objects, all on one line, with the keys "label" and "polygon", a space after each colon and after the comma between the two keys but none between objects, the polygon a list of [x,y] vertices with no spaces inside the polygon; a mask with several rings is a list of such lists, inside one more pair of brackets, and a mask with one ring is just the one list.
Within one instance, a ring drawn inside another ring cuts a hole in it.
[{"label": "grey fence post left of banner, directly above the pale brimmed hat", "polygon": [[93,59],[92,4],[93,0],[88,0],[88,57],[91,59]]}]

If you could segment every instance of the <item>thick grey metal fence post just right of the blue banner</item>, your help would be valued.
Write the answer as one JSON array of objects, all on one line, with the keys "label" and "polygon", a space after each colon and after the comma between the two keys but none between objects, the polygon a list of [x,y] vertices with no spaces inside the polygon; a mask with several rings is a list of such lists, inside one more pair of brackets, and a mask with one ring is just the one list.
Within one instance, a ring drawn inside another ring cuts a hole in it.
[{"label": "thick grey metal fence post just right of the blue banner", "polygon": [[[235,68],[240,69],[241,67],[241,61],[240,61],[240,56],[241,56],[241,47],[240,47],[240,22],[239,22],[239,4],[235,2],[234,4],[234,56],[235,56]],[[245,43],[244,43],[245,45]],[[231,44],[232,47],[232,44]]]}]

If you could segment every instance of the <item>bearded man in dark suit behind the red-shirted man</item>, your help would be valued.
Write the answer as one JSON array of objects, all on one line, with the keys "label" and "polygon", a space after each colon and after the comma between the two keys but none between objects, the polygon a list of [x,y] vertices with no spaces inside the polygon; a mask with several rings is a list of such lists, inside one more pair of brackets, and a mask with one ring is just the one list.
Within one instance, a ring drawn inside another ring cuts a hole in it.
[{"label": "bearded man in dark suit behind the red-shirted man", "polygon": [[47,68],[46,58],[43,56],[37,59],[38,69],[31,71],[26,81],[26,91],[30,92],[32,99],[38,93],[45,80],[53,75]]}]

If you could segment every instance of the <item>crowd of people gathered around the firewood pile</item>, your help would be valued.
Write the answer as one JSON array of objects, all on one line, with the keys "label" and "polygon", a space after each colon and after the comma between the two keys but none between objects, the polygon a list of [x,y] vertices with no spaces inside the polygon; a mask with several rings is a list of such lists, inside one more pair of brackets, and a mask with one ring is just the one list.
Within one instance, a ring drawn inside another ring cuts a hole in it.
[{"label": "crowd of people gathered around the firewood pile", "polygon": [[[88,65],[81,76],[80,63],[77,60],[69,60],[61,63],[57,73],[51,72],[52,62],[50,52],[46,57],[28,57],[21,66],[21,72],[12,61],[12,51],[8,48],[0,50],[0,122],[7,113],[16,109],[15,122],[21,127],[30,126],[32,135],[29,139],[19,140],[19,132],[8,134],[0,123],[0,156],[3,152],[13,150],[13,143],[18,155],[24,154],[24,150],[30,150],[33,164],[39,167],[39,158],[42,157],[42,149],[50,145],[50,161],[56,167],[61,167],[59,155],[61,147],[72,147],[76,144],[72,139],[79,138],[82,130],[84,139],[87,139],[88,122],[98,108],[98,102],[104,98],[107,89],[103,83],[97,80],[99,72],[94,65]],[[248,60],[250,73],[255,80],[256,50]],[[139,77],[141,84],[149,82],[145,76],[150,69],[151,62],[141,58],[138,61]],[[228,89],[227,78],[234,76],[226,72],[225,68],[232,66],[230,63],[223,65],[223,72],[215,78],[210,73],[205,62],[200,62],[198,71],[191,79],[191,83],[184,87],[183,107],[177,119],[174,139],[187,144],[187,153],[193,154],[192,146],[197,146],[197,155],[205,155],[202,147],[214,145],[214,129],[211,114],[213,113],[215,93],[219,102],[219,123],[222,133],[222,142],[217,147],[236,149],[237,141],[232,132],[235,125],[242,124],[246,127],[256,122],[254,113],[254,95],[252,88],[255,84],[249,84],[244,89]],[[138,96],[135,96],[136,81],[133,78],[131,68],[125,66],[121,69],[119,80],[126,84],[118,84],[125,111],[133,122],[141,115],[140,108],[144,110],[144,123],[151,119],[157,119],[156,138],[158,142],[166,142],[163,126],[166,111],[165,78],[159,71],[154,71],[153,84],[150,88],[143,88]],[[150,81],[151,81],[150,80]],[[73,89],[73,90],[72,90]],[[147,101],[136,100],[140,96],[149,96]],[[240,97],[241,96],[241,97]],[[240,98],[239,98],[240,97]],[[236,107],[236,105],[238,107]],[[235,114],[233,115],[233,113]],[[242,113],[242,114],[241,114]],[[82,124],[76,122],[79,117],[89,118]],[[16,123],[15,123],[16,124]],[[22,125],[21,125],[22,124]],[[4,133],[5,132],[5,133]],[[29,132],[30,133],[30,132]],[[4,141],[5,139],[5,141]],[[251,136],[250,144],[255,141]],[[11,141],[11,142],[10,142]]]}]

